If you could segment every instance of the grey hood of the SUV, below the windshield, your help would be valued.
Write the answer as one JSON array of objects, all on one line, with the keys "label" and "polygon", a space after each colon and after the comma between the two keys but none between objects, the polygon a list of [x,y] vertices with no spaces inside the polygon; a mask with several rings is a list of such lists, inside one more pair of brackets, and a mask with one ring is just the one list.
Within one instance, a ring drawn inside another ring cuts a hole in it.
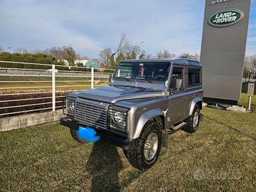
[{"label": "grey hood of the SUV, below the windshield", "polygon": [[144,87],[107,85],[92,90],[79,92],[78,97],[88,100],[115,103],[121,100],[133,100],[150,97],[163,97],[164,91]]}]

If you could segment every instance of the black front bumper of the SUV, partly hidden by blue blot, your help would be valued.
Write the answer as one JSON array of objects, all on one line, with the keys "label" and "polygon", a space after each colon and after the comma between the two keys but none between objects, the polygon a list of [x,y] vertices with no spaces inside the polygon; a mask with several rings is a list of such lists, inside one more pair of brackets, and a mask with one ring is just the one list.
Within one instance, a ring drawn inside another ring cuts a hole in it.
[{"label": "black front bumper of the SUV, partly hidden by blue blot", "polygon": [[[80,126],[82,126],[74,121],[69,121],[66,117],[60,119],[60,124],[64,125],[65,127],[69,127],[70,129],[78,129]],[[132,149],[134,146],[134,140],[120,137],[117,134],[108,132],[107,130],[95,129],[95,131],[97,132],[97,135],[100,136],[102,141],[119,146],[124,150]]]}]

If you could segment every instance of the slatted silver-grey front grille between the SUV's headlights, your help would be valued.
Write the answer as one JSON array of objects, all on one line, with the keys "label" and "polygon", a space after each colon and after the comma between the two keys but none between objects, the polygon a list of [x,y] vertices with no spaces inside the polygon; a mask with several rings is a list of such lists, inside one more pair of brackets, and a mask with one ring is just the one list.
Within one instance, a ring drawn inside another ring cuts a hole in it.
[{"label": "slatted silver-grey front grille between the SUV's headlights", "polygon": [[78,98],[75,100],[75,120],[90,127],[107,129],[108,105]]}]

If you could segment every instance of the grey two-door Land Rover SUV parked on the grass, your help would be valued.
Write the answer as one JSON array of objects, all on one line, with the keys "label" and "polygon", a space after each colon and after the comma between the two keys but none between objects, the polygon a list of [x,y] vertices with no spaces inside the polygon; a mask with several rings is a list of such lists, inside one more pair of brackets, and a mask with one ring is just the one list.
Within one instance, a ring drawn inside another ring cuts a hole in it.
[{"label": "grey two-door Land Rover SUV parked on the grass", "polygon": [[[179,129],[193,133],[202,117],[202,65],[185,58],[124,60],[110,84],[72,92],[60,124],[78,142],[79,129],[94,129],[105,142],[122,147],[132,166],[149,169]],[[86,127],[86,128],[83,128]]]}]

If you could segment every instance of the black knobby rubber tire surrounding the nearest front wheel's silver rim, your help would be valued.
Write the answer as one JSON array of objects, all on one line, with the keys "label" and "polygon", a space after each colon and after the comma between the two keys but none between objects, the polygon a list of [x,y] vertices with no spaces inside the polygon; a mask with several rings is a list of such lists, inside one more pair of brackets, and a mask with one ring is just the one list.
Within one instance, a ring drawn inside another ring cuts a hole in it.
[{"label": "black knobby rubber tire surrounding the nearest front wheel's silver rim", "polygon": [[[156,154],[153,159],[147,161],[144,156],[144,144],[146,142],[147,137],[152,132],[156,133],[158,136],[158,148],[156,149]],[[132,149],[124,150],[124,155],[127,157],[129,163],[135,168],[145,171],[153,166],[157,159],[159,158],[159,154],[161,151],[161,124],[152,121],[147,122],[139,138],[135,139],[135,144]]]}]

